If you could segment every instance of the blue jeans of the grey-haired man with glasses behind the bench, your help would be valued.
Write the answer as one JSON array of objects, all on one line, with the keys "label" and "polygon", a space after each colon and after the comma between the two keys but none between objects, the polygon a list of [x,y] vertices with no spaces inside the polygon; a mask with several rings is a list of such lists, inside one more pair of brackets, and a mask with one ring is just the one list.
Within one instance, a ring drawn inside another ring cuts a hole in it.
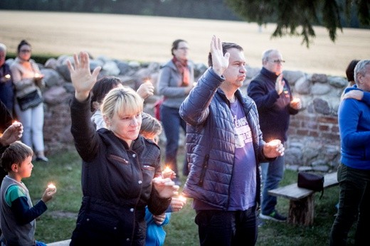
[{"label": "blue jeans of the grey-haired man with glasses behind the bench", "polygon": [[279,156],[275,161],[260,164],[262,171],[262,203],[261,213],[270,215],[275,210],[276,196],[270,196],[268,191],[277,188],[284,175],[284,156]]}]

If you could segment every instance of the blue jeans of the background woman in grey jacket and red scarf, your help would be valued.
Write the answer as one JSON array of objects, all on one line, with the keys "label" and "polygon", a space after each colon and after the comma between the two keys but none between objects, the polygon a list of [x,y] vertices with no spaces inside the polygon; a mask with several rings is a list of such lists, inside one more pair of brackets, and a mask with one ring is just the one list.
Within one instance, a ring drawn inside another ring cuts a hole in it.
[{"label": "blue jeans of the background woman in grey jacket and red scarf", "polygon": [[[184,119],[181,119],[179,109],[161,105],[160,114],[164,134],[166,135],[166,166],[169,166],[179,177],[179,169],[177,169],[177,149],[179,149],[180,127],[186,132],[186,122]],[[184,158],[184,169],[186,168],[187,162],[186,158]],[[187,175],[187,173],[184,174]]]}]

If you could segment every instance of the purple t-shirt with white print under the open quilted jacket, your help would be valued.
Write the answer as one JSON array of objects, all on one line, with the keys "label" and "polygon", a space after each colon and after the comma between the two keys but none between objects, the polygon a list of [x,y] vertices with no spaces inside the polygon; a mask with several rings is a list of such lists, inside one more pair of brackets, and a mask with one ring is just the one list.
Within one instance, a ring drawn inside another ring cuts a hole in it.
[{"label": "purple t-shirt with white print under the open quilted jacket", "polygon": [[240,102],[231,103],[231,114],[236,132],[233,179],[228,210],[247,210],[255,205],[256,163],[252,132]]}]

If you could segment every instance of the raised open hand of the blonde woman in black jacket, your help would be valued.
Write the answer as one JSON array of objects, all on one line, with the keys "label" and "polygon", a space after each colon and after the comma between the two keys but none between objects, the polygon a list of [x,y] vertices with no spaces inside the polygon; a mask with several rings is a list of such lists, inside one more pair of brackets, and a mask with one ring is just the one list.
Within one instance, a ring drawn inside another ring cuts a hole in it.
[{"label": "raised open hand of the blonde woman in black jacket", "polygon": [[80,52],[80,58],[74,54],[73,59],[75,60],[75,67],[73,68],[70,60],[67,61],[67,66],[70,71],[72,85],[75,87],[75,97],[78,101],[82,102],[88,98],[101,68],[95,68],[92,74],[90,71],[89,55],[85,52]]}]

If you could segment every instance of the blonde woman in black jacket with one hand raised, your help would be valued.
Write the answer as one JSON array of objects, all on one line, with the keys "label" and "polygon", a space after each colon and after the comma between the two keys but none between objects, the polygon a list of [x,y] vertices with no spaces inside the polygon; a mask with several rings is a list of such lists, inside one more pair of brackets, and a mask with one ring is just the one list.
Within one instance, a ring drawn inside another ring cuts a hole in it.
[{"label": "blonde woman in black jacket with one hand raised", "polygon": [[[107,129],[90,121],[90,90],[100,68],[90,73],[87,53],[68,62],[75,87],[71,132],[83,159],[83,202],[70,245],[144,245],[145,206],[164,213],[179,186],[161,173],[157,144],[139,135],[143,100],[131,88],[111,90],[102,103]],[[156,178],[154,178],[156,177]]]}]

